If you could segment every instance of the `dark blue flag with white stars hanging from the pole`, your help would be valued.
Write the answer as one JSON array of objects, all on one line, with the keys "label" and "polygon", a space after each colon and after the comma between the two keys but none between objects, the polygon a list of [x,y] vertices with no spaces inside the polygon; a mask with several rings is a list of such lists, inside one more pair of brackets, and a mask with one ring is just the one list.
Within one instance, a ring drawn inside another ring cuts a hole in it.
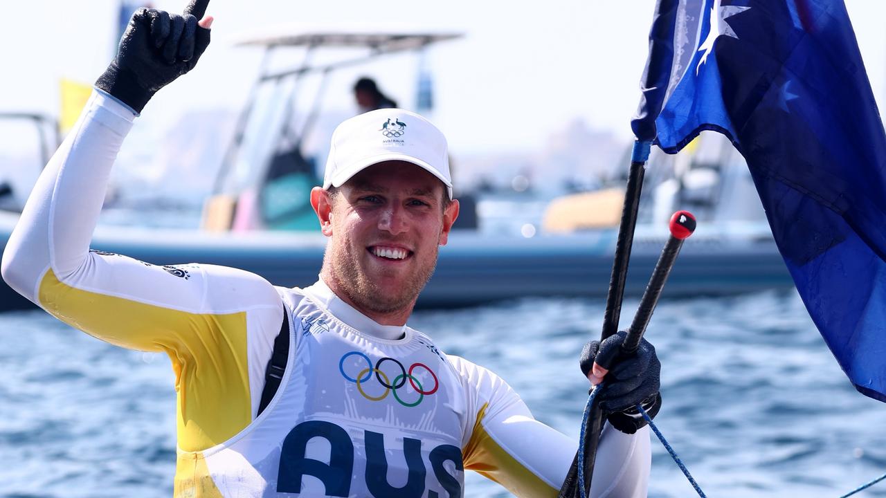
[{"label": "dark blue flag with white stars hanging from the pole", "polygon": [[674,19],[657,144],[732,140],[812,320],[886,401],[886,136],[843,1],[681,0]]}]

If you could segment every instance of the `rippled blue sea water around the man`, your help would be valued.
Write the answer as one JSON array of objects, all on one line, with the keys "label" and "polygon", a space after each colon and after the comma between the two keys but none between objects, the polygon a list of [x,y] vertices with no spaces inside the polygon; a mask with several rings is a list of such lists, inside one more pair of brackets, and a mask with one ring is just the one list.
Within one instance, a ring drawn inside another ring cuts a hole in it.
[{"label": "rippled blue sea water around the man", "polygon": [[[626,300],[623,324],[636,304]],[[537,418],[578,438],[578,356],[602,311],[601,300],[525,299],[419,311],[410,324],[497,371]],[[664,300],[647,338],[662,362],[656,422],[712,498],[835,498],[886,473],[886,405],[851,387],[796,293]],[[0,314],[0,345],[0,496],[172,494],[166,356],[107,345],[36,310]],[[652,447],[649,495],[694,495]],[[465,496],[509,496],[477,474],[466,481]],[[886,496],[886,482],[860,496]]]}]

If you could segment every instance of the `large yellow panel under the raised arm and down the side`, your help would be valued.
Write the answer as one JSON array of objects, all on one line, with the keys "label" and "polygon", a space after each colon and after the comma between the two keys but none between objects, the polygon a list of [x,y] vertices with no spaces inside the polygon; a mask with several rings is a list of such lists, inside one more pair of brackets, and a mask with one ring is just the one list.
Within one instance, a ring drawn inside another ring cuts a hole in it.
[{"label": "large yellow panel under the raised arm and down the side", "polygon": [[246,313],[188,313],[89,292],[49,270],[40,303],[62,322],[117,346],[163,351],[172,360],[178,446],[213,447],[252,421]]}]

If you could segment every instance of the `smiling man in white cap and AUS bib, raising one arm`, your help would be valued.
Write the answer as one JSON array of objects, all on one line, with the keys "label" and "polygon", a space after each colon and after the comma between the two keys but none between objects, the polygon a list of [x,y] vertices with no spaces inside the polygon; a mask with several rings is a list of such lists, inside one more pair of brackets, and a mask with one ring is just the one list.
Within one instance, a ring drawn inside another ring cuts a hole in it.
[{"label": "smiling man in white cap and AUS bib, raising one arm", "polygon": [[[575,442],[535,421],[500,377],[406,325],[458,215],[446,141],[420,116],[389,109],[336,130],[311,193],[330,245],[309,287],[89,251],[137,113],[209,43],[205,9],[136,12],[27,201],[6,281],[97,338],[169,355],[176,496],[462,496],[465,470],[519,496],[556,495]],[[602,434],[595,496],[646,493],[648,430],[623,413],[657,399],[657,360],[648,343],[641,351],[607,377],[618,429]],[[595,382],[604,374],[595,365]]]}]

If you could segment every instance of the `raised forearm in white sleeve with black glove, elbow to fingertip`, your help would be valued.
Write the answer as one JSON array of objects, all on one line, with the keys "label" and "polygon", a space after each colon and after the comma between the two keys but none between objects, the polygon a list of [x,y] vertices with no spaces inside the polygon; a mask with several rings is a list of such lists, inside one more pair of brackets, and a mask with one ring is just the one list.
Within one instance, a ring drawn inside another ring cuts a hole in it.
[{"label": "raised forearm in white sleeve with black glove, elbow to fingertip", "polygon": [[[70,281],[89,272],[89,240],[105,198],[107,180],[136,113],[163,86],[187,73],[209,44],[208,0],[184,15],[140,9],[120,38],[116,57],[99,76],[65,142],[40,175],[4,253],[4,279],[46,307],[46,276]],[[193,12],[193,13],[192,13]]]}]

